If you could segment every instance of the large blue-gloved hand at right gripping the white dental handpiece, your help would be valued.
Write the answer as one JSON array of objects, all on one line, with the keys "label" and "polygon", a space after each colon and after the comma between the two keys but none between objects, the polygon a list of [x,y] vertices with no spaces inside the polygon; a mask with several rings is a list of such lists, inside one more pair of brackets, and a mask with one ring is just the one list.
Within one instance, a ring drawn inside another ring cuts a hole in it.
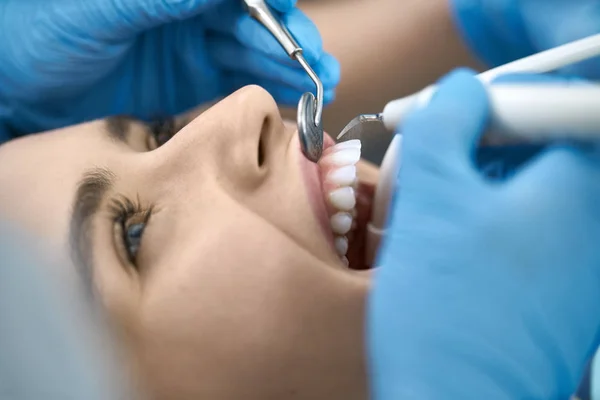
[{"label": "large blue-gloved hand at right gripping the white dental handpiece", "polygon": [[369,302],[374,399],[566,399],[600,332],[600,157],[554,146],[503,182],[475,167],[470,72],[402,127],[400,192]]}]

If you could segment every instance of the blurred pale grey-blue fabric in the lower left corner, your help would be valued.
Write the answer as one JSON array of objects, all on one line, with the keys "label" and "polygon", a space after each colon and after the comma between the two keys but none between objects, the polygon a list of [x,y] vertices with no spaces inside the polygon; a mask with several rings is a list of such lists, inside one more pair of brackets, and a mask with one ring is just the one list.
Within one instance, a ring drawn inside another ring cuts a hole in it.
[{"label": "blurred pale grey-blue fabric in the lower left corner", "polygon": [[135,398],[99,307],[65,290],[64,261],[21,228],[0,221],[0,398]]}]

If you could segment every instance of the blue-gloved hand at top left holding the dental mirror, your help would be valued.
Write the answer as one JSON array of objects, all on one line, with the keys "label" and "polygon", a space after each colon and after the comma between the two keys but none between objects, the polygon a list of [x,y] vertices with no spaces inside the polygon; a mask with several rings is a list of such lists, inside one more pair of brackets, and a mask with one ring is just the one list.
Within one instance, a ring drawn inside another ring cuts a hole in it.
[{"label": "blue-gloved hand at top left holding the dental mirror", "polygon": [[[317,28],[295,0],[267,3],[330,102],[339,65]],[[16,133],[114,114],[174,115],[248,84],[287,105],[315,91],[241,0],[3,0],[0,37],[0,120]]]}]

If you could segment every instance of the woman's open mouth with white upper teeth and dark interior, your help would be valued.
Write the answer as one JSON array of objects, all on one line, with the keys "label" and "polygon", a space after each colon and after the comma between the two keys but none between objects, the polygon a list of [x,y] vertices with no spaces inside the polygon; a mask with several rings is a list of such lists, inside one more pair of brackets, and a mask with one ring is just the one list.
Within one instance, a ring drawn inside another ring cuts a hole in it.
[{"label": "woman's open mouth with white upper teeth and dark interior", "polygon": [[360,153],[360,141],[349,140],[327,148],[319,161],[334,247],[341,261],[353,270],[373,267],[367,254],[367,225],[375,185],[359,180]]}]

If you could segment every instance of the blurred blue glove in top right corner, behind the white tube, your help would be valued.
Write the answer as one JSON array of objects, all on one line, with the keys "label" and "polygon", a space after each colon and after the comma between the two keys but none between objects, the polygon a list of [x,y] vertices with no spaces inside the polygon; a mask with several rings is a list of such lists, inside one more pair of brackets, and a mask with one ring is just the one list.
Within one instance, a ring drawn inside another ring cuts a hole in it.
[{"label": "blurred blue glove in top right corner, behind the white tube", "polygon": [[[497,66],[600,33],[597,0],[450,0],[463,38],[484,62]],[[600,59],[565,68],[600,78]]]}]

